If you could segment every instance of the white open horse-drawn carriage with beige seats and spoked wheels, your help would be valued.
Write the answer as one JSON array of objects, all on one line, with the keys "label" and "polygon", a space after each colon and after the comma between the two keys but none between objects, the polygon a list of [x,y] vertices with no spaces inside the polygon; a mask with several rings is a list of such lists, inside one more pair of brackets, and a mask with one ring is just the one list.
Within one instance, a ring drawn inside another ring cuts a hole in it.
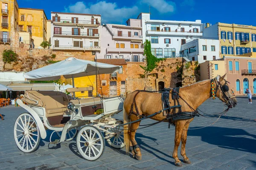
[{"label": "white open horse-drawn carriage with beige seats and spoked wheels", "polygon": [[[49,66],[45,68],[47,67]],[[102,73],[112,73],[117,68],[115,65],[104,67],[108,70]],[[86,68],[84,71],[88,73]],[[81,72],[79,77],[83,76]],[[29,76],[29,73],[25,76]],[[75,77],[74,74],[73,77]],[[45,80],[41,74],[40,79]],[[69,92],[91,90],[93,90],[92,87],[68,89]],[[123,131],[116,127],[121,125],[122,121],[112,118],[114,114],[123,110],[121,96],[74,99],[59,91],[26,91],[24,97],[21,100],[18,99],[17,103],[27,111],[17,117],[14,125],[15,142],[17,147],[25,153],[33,152],[38,148],[40,139],[47,137],[47,129],[52,130],[49,137],[52,144],[70,141],[76,137],[79,153],[84,159],[90,161],[102,155],[105,139],[114,148],[120,149],[125,146]],[[51,141],[53,133],[57,133],[59,139]]]}]

